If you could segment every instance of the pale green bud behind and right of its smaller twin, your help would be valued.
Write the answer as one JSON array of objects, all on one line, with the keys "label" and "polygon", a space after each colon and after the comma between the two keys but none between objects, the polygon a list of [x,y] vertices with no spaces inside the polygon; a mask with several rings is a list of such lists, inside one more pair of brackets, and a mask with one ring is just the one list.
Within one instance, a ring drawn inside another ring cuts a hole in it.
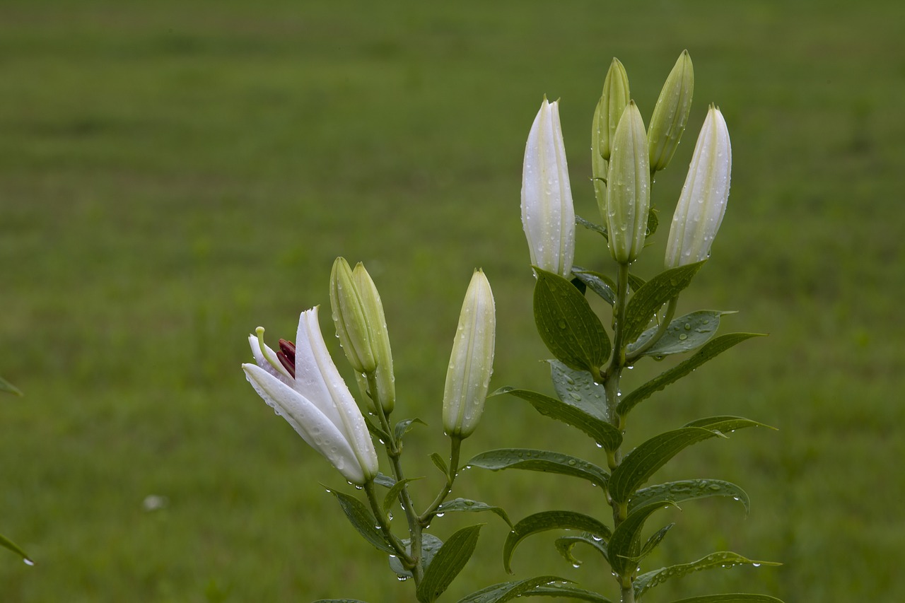
[{"label": "pale green bud behind and right of its smaller twin", "polygon": [[[380,302],[380,294],[377,292],[371,275],[365,270],[363,263],[357,263],[352,271],[352,279],[355,281],[358,293],[361,295],[362,307],[365,311],[368,331],[370,333],[371,347],[374,352],[376,369],[374,371],[377,390],[367,395],[367,380],[364,383],[362,395],[374,397],[380,401],[380,407],[389,415],[395,406],[395,376],[393,375],[393,353],[390,350],[389,333],[386,330],[386,318],[384,317],[384,304]],[[361,379],[361,377],[358,377]],[[361,382],[359,380],[359,387]]]}]

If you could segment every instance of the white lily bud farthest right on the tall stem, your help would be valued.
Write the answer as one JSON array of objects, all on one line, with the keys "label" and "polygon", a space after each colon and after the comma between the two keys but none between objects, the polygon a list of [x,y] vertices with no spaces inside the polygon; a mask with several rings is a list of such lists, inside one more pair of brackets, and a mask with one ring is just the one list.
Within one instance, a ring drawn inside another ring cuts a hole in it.
[{"label": "white lily bud farthest right on the tall stem", "polygon": [[688,176],[672,215],[666,244],[666,267],[700,262],[710,255],[729,201],[732,148],[729,129],[719,109],[710,105],[694,145]]}]

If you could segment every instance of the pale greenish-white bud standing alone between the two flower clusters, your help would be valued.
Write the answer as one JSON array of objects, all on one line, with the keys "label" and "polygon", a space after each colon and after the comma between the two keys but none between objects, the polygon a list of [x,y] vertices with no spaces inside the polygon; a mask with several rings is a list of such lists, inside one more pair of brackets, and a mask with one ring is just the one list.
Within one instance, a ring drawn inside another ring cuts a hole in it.
[{"label": "pale greenish-white bud standing alone between the two flower clusters", "polygon": [[476,270],[462,303],[443,388],[443,431],[447,436],[471,436],[481,420],[493,372],[496,323],[491,283]]}]

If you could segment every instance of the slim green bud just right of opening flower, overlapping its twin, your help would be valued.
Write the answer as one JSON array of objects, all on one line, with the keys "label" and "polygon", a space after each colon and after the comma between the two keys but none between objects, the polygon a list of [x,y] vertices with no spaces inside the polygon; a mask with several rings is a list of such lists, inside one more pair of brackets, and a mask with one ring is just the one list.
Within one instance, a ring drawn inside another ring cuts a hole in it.
[{"label": "slim green bud just right of opening flower, overlapping its twin", "polygon": [[358,373],[373,373],[377,365],[361,294],[352,269],[342,257],[336,259],[330,273],[330,307],[339,344],[349,364]]}]

